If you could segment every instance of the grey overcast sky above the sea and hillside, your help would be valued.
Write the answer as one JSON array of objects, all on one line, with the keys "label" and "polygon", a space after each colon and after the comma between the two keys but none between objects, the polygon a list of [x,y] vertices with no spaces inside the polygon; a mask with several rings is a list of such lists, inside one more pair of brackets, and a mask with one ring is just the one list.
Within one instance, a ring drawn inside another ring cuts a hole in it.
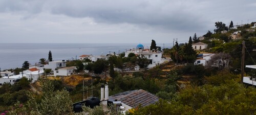
[{"label": "grey overcast sky above the sea and hillside", "polygon": [[4,43],[182,43],[231,20],[256,21],[256,1],[0,0]]}]

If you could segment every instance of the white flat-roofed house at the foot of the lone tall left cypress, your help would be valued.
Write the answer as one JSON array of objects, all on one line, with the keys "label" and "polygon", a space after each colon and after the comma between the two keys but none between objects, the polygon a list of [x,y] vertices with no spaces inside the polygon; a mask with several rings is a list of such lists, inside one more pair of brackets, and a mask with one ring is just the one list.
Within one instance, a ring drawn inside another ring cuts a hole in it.
[{"label": "white flat-roofed house at the foot of the lone tall left cypress", "polygon": [[45,68],[51,68],[52,71],[54,71],[56,68],[60,67],[66,67],[66,61],[61,60],[61,61],[50,61],[47,65],[45,65]]}]

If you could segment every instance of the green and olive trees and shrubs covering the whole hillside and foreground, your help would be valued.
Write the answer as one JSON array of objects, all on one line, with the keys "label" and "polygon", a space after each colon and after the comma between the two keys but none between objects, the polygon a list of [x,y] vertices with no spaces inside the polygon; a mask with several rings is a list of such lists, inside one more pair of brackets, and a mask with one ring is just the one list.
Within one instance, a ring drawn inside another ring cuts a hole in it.
[{"label": "green and olive trees and shrubs covering the whole hillside and foreground", "polygon": [[[193,42],[200,41],[195,34],[193,38],[189,38],[188,43],[176,42],[174,48],[163,49],[164,55],[172,57],[174,62],[143,72],[123,74],[114,71],[114,67],[122,69],[134,64],[146,68],[147,60],[135,54],[124,57],[122,53],[119,56],[111,56],[109,60],[98,60],[86,66],[83,66],[82,62],[90,60],[70,61],[67,65],[77,66],[77,73],[83,72],[85,68],[90,73],[98,74],[93,77],[93,84],[90,80],[84,82],[86,89],[93,85],[94,97],[100,96],[100,85],[108,82],[110,96],[122,91],[144,89],[161,98],[156,104],[138,106],[127,114],[256,114],[256,89],[240,83],[241,43],[246,43],[245,64],[256,64],[256,33],[246,31],[250,26],[229,29],[228,33],[221,33],[228,29],[225,25],[223,27],[221,22],[217,22],[216,27],[215,33],[208,31],[204,35],[205,40],[201,40],[208,44],[206,50],[191,49]],[[241,39],[232,40],[228,37],[235,31],[241,31]],[[204,52],[216,54],[206,66],[194,65],[197,54]],[[174,63],[177,66],[174,66]],[[245,73],[252,78],[256,77],[255,70],[246,68]],[[91,78],[87,74],[80,77],[82,80]],[[0,109],[16,107],[7,114],[74,114],[72,102],[84,98],[82,80],[71,86],[65,80],[41,78],[37,93],[28,91],[30,82],[24,78],[14,85],[4,84],[0,88]],[[179,81],[182,81],[182,85]],[[84,107],[84,110],[91,114],[106,114],[101,106],[96,109]],[[120,114],[116,111],[109,113]]]}]

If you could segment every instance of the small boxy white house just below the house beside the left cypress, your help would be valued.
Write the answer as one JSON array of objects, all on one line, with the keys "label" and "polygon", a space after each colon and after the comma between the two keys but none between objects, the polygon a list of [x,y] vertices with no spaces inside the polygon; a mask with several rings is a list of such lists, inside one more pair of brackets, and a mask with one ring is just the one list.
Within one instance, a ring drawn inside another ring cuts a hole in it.
[{"label": "small boxy white house just below the house beside the left cypress", "polygon": [[73,74],[75,66],[57,68],[53,71],[54,76],[70,76]]}]

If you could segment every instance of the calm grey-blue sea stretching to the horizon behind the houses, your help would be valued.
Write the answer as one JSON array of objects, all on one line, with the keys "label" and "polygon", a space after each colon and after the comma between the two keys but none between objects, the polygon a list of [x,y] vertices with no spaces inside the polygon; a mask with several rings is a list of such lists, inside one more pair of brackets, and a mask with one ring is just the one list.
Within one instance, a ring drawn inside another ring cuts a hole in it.
[{"label": "calm grey-blue sea stretching to the horizon behind the houses", "polygon": [[[1,71],[8,68],[22,67],[24,61],[31,64],[40,58],[48,59],[49,51],[53,60],[79,59],[80,55],[106,55],[110,52],[125,52],[136,48],[136,43],[0,43]],[[144,47],[150,43],[144,43]],[[170,43],[169,43],[170,45]],[[163,44],[159,45],[163,48]],[[167,45],[165,45],[167,48]]]}]

